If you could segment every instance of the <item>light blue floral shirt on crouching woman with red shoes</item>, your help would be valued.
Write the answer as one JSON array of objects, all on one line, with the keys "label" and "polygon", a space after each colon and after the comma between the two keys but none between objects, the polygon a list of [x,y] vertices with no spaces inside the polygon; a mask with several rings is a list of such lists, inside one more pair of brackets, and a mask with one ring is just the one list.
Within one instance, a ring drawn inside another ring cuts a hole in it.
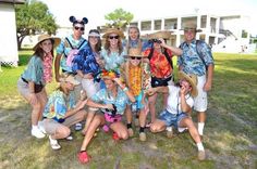
[{"label": "light blue floral shirt on crouching woman with red shoes", "polygon": [[[113,98],[107,89],[99,90],[96,94],[90,98],[94,102],[103,103],[103,104],[114,104],[117,106],[117,114],[123,115],[128,104],[128,98],[120,88],[118,88],[118,95]],[[101,109],[106,113],[106,109]],[[110,113],[111,115],[111,113]]]}]

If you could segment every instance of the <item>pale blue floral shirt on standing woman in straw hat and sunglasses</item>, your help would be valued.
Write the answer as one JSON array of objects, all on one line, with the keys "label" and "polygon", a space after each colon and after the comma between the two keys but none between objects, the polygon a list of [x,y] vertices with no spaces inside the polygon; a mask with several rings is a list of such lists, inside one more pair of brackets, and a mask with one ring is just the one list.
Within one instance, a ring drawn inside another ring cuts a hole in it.
[{"label": "pale blue floral shirt on standing woman in straw hat and sunglasses", "polygon": [[102,49],[100,55],[103,57],[105,68],[107,70],[115,70],[117,73],[120,74],[120,66],[125,62],[125,58],[124,58],[125,54],[126,54],[126,51],[123,50],[121,54],[119,54],[118,52],[111,52],[108,55],[108,51]]}]

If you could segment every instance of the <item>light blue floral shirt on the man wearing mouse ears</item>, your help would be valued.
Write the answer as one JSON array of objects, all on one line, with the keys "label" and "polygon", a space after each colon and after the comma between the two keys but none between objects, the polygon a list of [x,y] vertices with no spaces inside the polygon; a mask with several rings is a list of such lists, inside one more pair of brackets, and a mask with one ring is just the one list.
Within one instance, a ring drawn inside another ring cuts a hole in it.
[{"label": "light blue floral shirt on the man wearing mouse ears", "polygon": [[[83,38],[83,37],[79,40],[75,40],[72,35],[70,35],[68,37],[68,39],[70,40],[70,42],[74,49],[77,49],[85,40],[85,38]],[[87,46],[87,43],[88,42],[85,41],[83,43],[83,46],[81,47],[81,49],[83,49],[85,46]],[[66,56],[69,55],[70,51],[72,50],[72,47],[69,44],[69,42],[66,41],[65,38],[62,39],[61,43],[57,47],[57,54],[63,55],[60,61],[60,66],[63,70],[66,70],[69,73],[72,73],[72,67],[66,65]]]}]

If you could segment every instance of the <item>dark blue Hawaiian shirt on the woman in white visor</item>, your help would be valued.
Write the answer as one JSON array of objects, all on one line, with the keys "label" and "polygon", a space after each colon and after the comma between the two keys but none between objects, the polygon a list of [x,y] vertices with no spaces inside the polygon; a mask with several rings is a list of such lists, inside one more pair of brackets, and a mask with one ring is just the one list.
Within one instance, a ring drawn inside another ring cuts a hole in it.
[{"label": "dark blue Hawaiian shirt on the woman in white visor", "polygon": [[96,76],[100,72],[100,66],[96,62],[96,53],[89,46],[85,46],[73,58],[72,70],[82,70],[83,74],[91,73]]}]

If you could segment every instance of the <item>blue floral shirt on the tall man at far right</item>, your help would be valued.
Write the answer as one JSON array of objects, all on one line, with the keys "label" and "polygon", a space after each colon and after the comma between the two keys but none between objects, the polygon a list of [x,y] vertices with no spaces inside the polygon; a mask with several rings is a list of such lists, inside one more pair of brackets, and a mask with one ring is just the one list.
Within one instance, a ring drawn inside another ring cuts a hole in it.
[{"label": "blue floral shirt on the tall man at far right", "polygon": [[181,49],[183,50],[183,54],[178,57],[178,64],[182,66],[182,70],[186,74],[194,74],[197,76],[206,75],[206,66],[213,65],[213,57],[211,54],[211,50],[206,42],[198,43],[200,46],[198,51],[203,54],[203,58],[205,63],[203,63],[200,56],[196,51],[196,40],[193,40],[189,44],[183,42],[181,44]]}]

